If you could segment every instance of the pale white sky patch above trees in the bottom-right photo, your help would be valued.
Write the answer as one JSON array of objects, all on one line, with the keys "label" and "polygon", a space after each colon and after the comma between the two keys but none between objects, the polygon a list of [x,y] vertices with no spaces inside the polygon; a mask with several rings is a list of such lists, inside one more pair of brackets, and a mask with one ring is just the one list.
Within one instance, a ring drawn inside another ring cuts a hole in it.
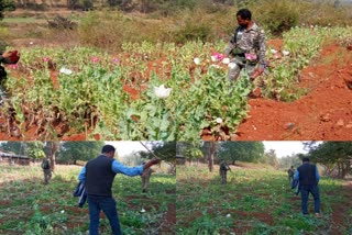
[{"label": "pale white sky patch above trees in the bottom-right photo", "polygon": [[289,156],[292,154],[307,154],[304,149],[302,142],[263,142],[265,152],[274,149],[278,158]]}]

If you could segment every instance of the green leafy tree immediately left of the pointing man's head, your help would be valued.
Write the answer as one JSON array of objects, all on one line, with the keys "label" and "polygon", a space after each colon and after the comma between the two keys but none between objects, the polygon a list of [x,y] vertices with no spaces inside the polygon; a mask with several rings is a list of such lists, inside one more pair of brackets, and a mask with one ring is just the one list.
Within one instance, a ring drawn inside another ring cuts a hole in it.
[{"label": "green leafy tree immediately left of the pointing man's head", "polygon": [[89,160],[101,153],[103,142],[64,142],[58,155],[59,163],[77,164],[77,160]]}]

